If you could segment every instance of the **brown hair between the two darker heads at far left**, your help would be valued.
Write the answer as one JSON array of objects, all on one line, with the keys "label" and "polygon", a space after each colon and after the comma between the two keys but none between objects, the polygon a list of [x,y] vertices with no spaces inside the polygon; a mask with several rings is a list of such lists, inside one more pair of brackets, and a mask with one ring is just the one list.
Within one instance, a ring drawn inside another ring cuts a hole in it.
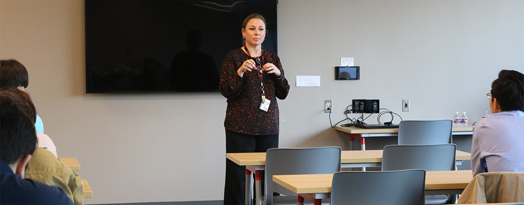
[{"label": "brown hair between the two darker heads at far left", "polygon": [[23,92],[18,88],[11,87],[0,89],[0,96],[4,96],[13,100],[13,103],[18,106],[18,109],[26,113],[27,117],[29,117],[32,123],[36,122],[36,108],[26,92]]}]

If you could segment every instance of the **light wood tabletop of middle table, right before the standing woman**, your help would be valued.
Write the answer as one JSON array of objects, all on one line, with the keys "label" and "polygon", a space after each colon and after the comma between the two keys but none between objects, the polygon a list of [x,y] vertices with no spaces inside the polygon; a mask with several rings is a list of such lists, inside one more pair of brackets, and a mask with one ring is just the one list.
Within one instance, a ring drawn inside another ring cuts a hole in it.
[{"label": "light wood tabletop of middle table, right before the standing woman", "polygon": [[[381,163],[382,150],[352,150],[342,151],[341,163]],[[240,166],[260,166],[266,165],[265,152],[253,153],[227,153],[226,157]],[[463,151],[456,151],[456,160],[471,160],[471,154]]]}]

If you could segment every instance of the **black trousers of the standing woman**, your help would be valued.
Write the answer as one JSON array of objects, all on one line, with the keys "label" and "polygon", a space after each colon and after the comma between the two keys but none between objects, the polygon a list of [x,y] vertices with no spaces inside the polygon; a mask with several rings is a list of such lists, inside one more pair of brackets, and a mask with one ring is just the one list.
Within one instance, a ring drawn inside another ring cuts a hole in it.
[{"label": "black trousers of the standing woman", "polygon": [[[278,147],[278,134],[250,135],[226,130],[226,153],[266,152]],[[264,174],[262,175],[264,181]],[[264,187],[264,186],[263,186]],[[245,205],[246,166],[226,159],[224,205]]]}]

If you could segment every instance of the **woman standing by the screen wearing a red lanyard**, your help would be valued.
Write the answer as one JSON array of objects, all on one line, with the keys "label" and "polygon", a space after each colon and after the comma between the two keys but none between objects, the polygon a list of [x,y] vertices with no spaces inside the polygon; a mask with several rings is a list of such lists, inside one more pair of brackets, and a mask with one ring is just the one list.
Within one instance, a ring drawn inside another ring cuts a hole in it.
[{"label": "woman standing by the screen wearing a red lanyard", "polygon": [[[280,59],[262,48],[266,20],[249,15],[242,25],[245,45],[226,55],[220,92],[227,98],[224,127],[226,153],[266,152],[278,147],[277,99],[285,99],[289,84]],[[244,166],[226,160],[224,204],[245,204]]]}]

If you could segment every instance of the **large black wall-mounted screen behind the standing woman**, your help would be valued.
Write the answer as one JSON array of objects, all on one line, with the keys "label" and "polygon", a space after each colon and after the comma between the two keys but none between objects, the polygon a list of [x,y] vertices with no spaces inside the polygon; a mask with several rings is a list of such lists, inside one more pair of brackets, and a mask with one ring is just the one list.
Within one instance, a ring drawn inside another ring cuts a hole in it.
[{"label": "large black wall-mounted screen behind the standing woman", "polygon": [[85,0],[86,93],[217,92],[253,13],[277,53],[277,0]]}]

